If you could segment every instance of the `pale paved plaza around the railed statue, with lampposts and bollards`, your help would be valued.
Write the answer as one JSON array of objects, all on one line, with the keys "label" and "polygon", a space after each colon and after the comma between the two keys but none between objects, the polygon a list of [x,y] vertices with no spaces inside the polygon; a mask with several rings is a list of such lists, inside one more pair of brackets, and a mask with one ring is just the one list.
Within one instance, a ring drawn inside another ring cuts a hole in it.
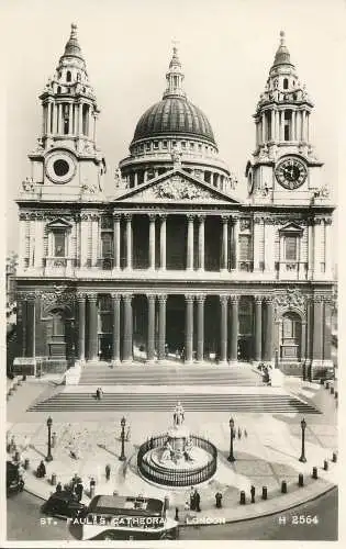
[{"label": "pale paved plaza around the railed statue, with lampposts and bollards", "polygon": [[[297,379],[286,379],[284,389],[264,388],[265,392],[281,393],[286,391],[290,397],[302,399],[305,404],[317,410],[319,414],[305,414],[305,453],[306,462],[299,461],[301,452],[302,415],[299,412],[267,413],[252,412],[250,402],[248,412],[230,413],[219,412],[187,412],[186,425],[190,433],[208,438],[217,448],[217,470],[215,475],[204,484],[198,486],[201,495],[201,513],[199,517],[225,518],[235,520],[249,518],[260,514],[277,512],[280,506],[288,508],[292,505],[316,496],[337,484],[338,463],[332,461],[333,453],[337,450],[336,412],[337,399],[323,385],[301,382]],[[62,391],[79,391],[86,394],[89,391],[92,397],[92,388],[86,389],[55,386],[44,381],[29,381],[16,389],[9,401],[8,410],[8,437],[14,436],[18,450],[22,459],[30,460],[30,468],[25,472],[26,489],[36,495],[47,498],[55,490],[51,483],[55,473],[57,481],[64,485],[77,473],[81,477],[85,494],[83,501],[89,501],[89,483],[96,479],[96,493],[113,493],[165,497],[168,495],[170,512],[179,509],[182,522],[186,515],[186,501],[190,488],[166,489],[150,484],[137,472],[136,452],[138,447],[150,436],[164,434],[171,426],[172,411],[126,412],[97,411],[94,407],[86,412],[53,411],[52,432],[55,433],[55,446],[52,450],[53,461],[46,463],[45,479],[37,479],[34,474],[40,461],[47,453],[47,426],[46,412],[27,412],[32,402],[49,400],[52,395]],[[120,388],[113,388],[113,391]],[[136,388],[137,394],[161,394],[163,391],[172,391],[172,388]],[[187,388],[174,388],[174,393],[181,395],[183,404]],[[207,395],[205,388],[193,388],[194,392]],[[220,395],[236,393],[260,392],[260,388],[216,388]],[[108,388],[108,392],[112,392]],[[230,463],[230,416],[234,417],[236,438],[234,439],[234,455],[236,461]],[[126,418],[125,441],[126,460],[119,460],[121,453],[121,426],[122,416]],[[130,429],[129,429],[130,428]],[[238,428],[242,436],[238,438]],[[129,429],[129,433],[127,433]],[[246,435],[245,436],[245,430]],[[71,451],[77,453],[77,459],[71,457]],[[328,470],[323,469],[324,461]],[[105,479],[105,466],[111,467],[111,478]],[[312,468],[317,467],[319,479],[312,479]],[[304,486],[298,485],[299,473],[304,474]],[[287,481],[288,493],[281,494],[281,482]],[[256,488],[256,503],[250,504],[250,486]],[[261,501],[261,489],[267,486],[268,501]],[[239,492],[245,491],[247,504],[239,505]],[[216,509],[215,493],[223,494],[223,507]]]}]

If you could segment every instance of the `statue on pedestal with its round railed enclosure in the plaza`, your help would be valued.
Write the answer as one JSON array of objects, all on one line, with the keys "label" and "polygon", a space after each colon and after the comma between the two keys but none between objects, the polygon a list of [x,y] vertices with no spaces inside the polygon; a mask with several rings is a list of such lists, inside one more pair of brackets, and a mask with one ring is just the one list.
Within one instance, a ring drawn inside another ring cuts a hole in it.
[{"label": "statue on pedestal with its round railed enclosure in the plaza", "polygon": [[190,434],[180,402],[172,417],[174,425],[167,433],[141,446],[138,470],[157,484],[188,486],[204,482],[216,471],[217,450],[209,440]]}]

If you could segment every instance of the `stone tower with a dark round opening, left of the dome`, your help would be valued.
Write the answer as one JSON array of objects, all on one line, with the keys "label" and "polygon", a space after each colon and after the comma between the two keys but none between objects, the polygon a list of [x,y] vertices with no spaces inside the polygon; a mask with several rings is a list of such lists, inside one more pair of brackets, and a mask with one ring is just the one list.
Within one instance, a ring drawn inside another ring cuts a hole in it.
[{"label": "stone tower with a dark round opening, left of the dome", "polygon": [[102,190],[105,163],[96,144],[97,119],[100,113],[94,91],[89,83],[86,61],[71,24],[53,78],[40,96],[42,131],[36,149],[29,155],[32,183],[41,186],[41,197],[57,194],[64,200],[76,193]]}]

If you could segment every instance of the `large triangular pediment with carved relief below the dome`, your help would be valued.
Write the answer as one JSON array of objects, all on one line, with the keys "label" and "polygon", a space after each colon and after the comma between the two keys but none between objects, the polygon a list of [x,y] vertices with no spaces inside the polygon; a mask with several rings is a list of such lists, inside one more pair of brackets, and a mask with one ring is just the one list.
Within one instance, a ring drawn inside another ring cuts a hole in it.
[{"label": "large triangular pediment with carved relief below the dome", "polygon": [[181,169],[166,172],[119,195],[116,202],[238,203],[236,199]]}]

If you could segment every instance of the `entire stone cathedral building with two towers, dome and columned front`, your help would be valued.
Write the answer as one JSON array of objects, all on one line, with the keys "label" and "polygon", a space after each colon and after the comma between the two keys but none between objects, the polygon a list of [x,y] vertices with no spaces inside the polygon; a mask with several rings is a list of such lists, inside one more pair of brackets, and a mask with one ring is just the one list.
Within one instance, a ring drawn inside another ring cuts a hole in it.
[{"label": "entire stone cathedral building with two towers, dome and columned front", "polygon": [[71,25],[40,96],[42,132],[16,200],[16,373],[97,383],[134,367],[145,376],[210,366],[217,377],[265,362],[306,378],[333,367],[334,205],[284,33],[267,80],[263,66],[256,145],[239,182],[187,98],[180,54],[174,47],[163,97],[138,119],[129,156],[111,166]]}]

